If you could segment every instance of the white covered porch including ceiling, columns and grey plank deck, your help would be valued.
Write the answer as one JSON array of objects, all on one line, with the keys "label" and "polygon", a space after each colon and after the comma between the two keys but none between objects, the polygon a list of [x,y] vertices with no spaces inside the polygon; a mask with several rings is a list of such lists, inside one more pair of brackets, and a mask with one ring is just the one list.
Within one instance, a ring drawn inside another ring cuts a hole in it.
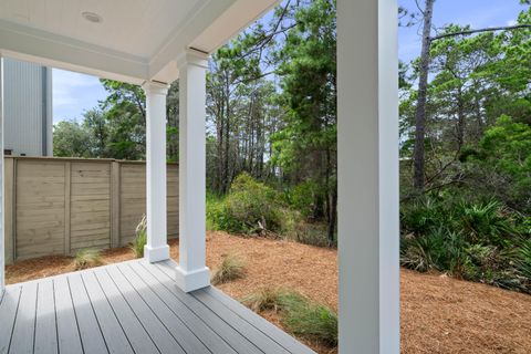
[{"label": "white covered porch including ceiling, columns and grey plank deck", "polygon": [[[310,352],[211,288],[205,257],[207,60],[277,3],[0,0],[0,65],[9,56],[138,84],[147,103],[142,261],[6,287],[0,159],[0,353]],[[341,353],[399,352],[396,29],[395,0],[337,0]],[[177,79],[175,263],[166,230],[166,94]],[[0,122],[2,97],[0,88]]]}]

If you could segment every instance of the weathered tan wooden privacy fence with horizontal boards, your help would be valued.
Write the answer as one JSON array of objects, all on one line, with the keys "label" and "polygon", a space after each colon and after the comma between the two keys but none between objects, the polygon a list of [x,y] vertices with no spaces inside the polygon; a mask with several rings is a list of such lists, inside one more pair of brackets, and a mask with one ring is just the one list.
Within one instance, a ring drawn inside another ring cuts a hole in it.
[{"label": "weathered tan wooden privacy fence with horizontal boards", "polygon": [[[133,241],[146,212],[143,162],[4,159],[6,261]],[[168,237],[178,233],[178,165],[167,169]]]}]

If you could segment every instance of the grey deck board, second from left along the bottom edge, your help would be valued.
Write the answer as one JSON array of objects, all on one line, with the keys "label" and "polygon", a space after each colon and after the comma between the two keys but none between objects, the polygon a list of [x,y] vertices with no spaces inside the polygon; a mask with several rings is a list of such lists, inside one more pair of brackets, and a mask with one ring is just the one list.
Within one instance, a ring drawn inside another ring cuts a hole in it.
[{"label": "grey deck board, second from left along the bottom edge", "polygon": [[9,353],[33,353],[38,287],[33,283],[22,288]]}]

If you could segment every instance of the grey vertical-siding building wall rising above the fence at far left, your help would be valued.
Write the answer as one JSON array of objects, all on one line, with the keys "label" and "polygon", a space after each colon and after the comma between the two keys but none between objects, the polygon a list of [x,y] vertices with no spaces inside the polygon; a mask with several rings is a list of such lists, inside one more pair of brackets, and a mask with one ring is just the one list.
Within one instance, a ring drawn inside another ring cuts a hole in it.
[{"label": "grey vertical-siding building wall rising above the fence at far left", "polygon": [[4,149],[51,156],[52,70],[4,59]]}]

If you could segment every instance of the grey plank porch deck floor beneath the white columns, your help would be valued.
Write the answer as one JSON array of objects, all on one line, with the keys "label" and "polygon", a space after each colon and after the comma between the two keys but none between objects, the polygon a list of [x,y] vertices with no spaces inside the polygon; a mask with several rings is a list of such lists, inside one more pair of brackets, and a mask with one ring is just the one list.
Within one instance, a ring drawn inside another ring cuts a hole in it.
[{"label": "grey plank porch deck floor beneath the white columns", "polygon": [[192,293],[175,262],[128,261],[8,285],[3,353],[313,353],[214,287]]}]

